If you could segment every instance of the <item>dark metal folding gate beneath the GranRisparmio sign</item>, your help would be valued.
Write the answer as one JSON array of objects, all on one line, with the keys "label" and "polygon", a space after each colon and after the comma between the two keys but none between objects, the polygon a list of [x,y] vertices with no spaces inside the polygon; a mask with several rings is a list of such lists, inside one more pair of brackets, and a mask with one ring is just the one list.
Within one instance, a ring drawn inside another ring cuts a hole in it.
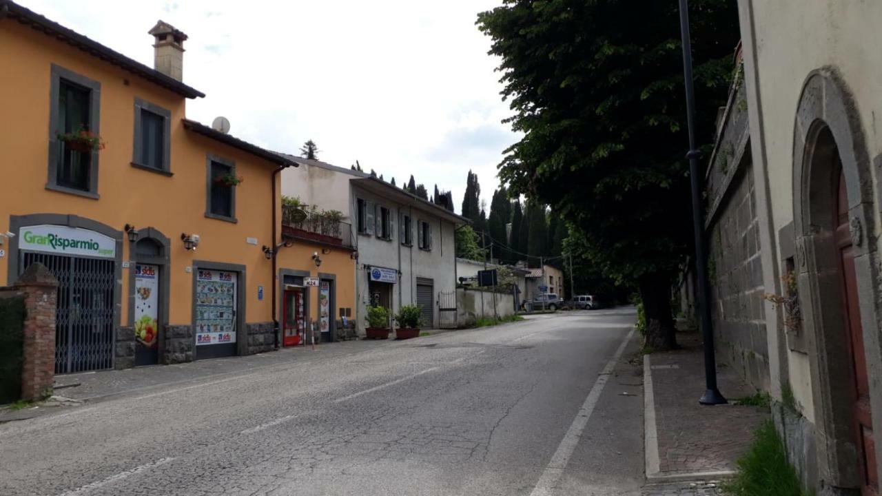
[{"label": "dark metal folding gate beneath the GranRisparmio sign", "polygon": [[58,279],[56,373],[113,367],[114,261],[22,252]]}]

